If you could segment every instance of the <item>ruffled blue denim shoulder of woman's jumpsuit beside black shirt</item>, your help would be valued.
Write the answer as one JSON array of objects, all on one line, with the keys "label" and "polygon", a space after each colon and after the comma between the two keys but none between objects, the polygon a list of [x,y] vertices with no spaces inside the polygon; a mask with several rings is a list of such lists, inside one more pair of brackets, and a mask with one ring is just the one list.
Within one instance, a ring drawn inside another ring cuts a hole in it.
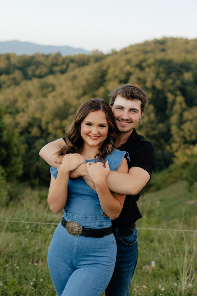
[{"label": "ruffled blue denim shoulder of woman's jumpsuit beside black shirt", "polygon": [[105,158],[105,161],[108,160],[110,170],[117,170],[124,157],[129,161],[128,152],[115,149]]}]

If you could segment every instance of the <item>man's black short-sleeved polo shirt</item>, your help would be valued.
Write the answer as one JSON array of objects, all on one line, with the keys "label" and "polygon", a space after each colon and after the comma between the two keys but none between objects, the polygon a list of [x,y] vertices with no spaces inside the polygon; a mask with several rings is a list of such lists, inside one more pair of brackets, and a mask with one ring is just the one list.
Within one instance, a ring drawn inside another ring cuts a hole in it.
[{"label": "man's black short-sleeved polo shirt", "polygon": [[[138,135],[134,128],[128,141],[117,149],[128,152],[130,157],[130,162],[128,163],[129,169],[132,167],[143,168],[149,173],[151,179],[156,158],[156,152],[151,142],[145,141],[144,137]],[[139,200],[139,193],[136,195],[126,195],[123,209],[119,217],[112,220],[114,227],[130,226],[142,217],[136,203],[137,200]]]}]

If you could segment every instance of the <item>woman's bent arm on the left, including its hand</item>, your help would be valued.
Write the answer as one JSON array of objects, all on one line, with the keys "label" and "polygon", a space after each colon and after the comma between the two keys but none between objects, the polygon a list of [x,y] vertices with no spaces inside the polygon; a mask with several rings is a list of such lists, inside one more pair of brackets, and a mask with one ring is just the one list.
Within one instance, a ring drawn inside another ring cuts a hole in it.
[{"label": "woman's bent arm on the left, including its hand", "polygon": [[59,167],[56,180],[51,176],[47,201],[53,213],[58,214],[66,205],[69,172],[84,162],[80,154],[68,154]]}]

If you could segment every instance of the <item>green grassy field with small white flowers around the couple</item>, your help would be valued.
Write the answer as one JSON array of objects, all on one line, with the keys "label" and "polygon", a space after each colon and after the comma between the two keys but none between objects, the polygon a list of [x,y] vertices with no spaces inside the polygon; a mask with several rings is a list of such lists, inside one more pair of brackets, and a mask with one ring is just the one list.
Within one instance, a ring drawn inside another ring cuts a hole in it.
[{"label": "green grassy field with small white flowers around the couple", "polygon": [[[62,213],[54,215],[49,210],[46,189],[32,190],[21,185],[14,192],[9,204],[1,205],[1,220],[61,220]],[[146,229],[196,229],[194,194],[181,181],[158,192],[144,193],[138,205],[143,215],[137,225],[139,259],[129,295],[196,295],[197,233]],[[55,227],[0,222],[1,296],[56,295],[47,267]]]}]

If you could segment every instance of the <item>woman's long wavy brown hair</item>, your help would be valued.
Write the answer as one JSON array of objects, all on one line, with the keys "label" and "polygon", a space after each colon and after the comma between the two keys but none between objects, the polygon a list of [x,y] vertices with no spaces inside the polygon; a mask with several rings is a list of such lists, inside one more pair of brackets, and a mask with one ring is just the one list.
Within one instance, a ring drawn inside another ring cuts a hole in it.
[{"label": "woman's long wavy brown hair", "polygon": [[103,99],[90,99],[84,102],[76,111],[73,122],[66,132],[66,145],[61,147],[57,152],[58,155],[68,153],[80,153],[84,140],[81,136],[81,123],[90,112],[101,110],[105,112],[106,119],[109,125],[108,136],[95,155],[99,161],[105,162],[104,159],[115,149],[115,142],[117,139],[117,129],[115,126],[115,119],[109,104]]}]

